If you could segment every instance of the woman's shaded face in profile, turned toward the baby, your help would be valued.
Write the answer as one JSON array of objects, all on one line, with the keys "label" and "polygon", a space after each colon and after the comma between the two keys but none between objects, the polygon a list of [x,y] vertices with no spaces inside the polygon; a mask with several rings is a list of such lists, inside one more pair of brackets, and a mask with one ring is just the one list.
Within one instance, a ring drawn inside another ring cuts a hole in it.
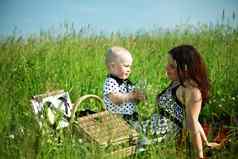
[{"label": "woman's shaded face in profile, turned toward the baby", "polygon": [[166,74],[170,80],[172,81],[178,80],[177,64],[170,54],[168,54],[168,63],[165,69],[166,69]]}]

